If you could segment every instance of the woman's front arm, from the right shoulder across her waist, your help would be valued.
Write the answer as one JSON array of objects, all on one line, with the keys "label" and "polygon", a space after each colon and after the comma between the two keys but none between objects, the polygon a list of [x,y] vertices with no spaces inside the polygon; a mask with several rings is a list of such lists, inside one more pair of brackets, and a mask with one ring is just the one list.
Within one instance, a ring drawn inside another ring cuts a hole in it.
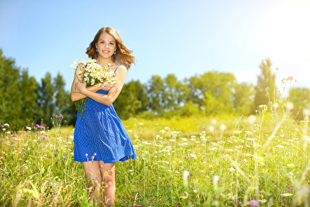
[{"label": "woman's front arm, from the right shoulder across her waist", "polygon": [[97,101],[99,103],[103,103],[106,106],[110,106],[118,97],[118,95],[121,93],[121,90],[123,88],[123,85],[125,83],[125,77],[126,77],[127,69],[125,66],[119,66],[118,70],[116,71],[115,77],[117,80],[117,87],[113,87],[107,95],[102,95],[96,92],[92,92],[91,90],[88,90],[88,88],[85,87],[85,84],[83,83],[77,83],[76,89],[81,92],[81,94],[90,97],[94,101]]}]

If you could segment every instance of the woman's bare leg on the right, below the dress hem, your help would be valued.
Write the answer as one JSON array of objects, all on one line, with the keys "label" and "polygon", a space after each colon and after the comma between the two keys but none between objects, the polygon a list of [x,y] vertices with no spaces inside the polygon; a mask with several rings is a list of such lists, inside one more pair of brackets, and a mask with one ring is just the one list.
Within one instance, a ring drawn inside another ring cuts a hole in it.
[{"label": "woman's bare leg on the right, below the dress hem", "polygon": [[115,203],[115,162],[114,163],[104,163],[99,161],[101,166],[100,171],[103,177],[103,190],[104,199],[103,204],[105,206],[114,206]]}]

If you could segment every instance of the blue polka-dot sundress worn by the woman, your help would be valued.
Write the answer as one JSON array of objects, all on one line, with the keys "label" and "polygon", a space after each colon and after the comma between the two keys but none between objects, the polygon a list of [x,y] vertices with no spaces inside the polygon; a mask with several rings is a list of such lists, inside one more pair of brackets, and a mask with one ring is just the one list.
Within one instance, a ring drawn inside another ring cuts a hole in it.
[{"label": "blue polka-dot sundress worn by the woman", "polygon": [[[105,95],[107,92],[107,90],[97,91]],[[121,119],[116,115],[113,104],[106,106],[88,97],[85,109],[82,115],[77,112],[74,161],[103,160],[104,163],[114,163],[136,159],[132,141]],[[85,119],[83,119],[84,113]]]}]

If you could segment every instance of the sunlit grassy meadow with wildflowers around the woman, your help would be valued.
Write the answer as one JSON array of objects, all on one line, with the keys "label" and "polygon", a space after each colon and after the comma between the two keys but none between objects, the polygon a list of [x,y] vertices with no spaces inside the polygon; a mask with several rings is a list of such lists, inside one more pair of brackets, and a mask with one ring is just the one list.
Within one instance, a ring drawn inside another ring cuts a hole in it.
[{"label": "sunlit grassy meadow with wildflowers around the woman", "polygon": [[[137,159],[116,163],[116,206],[309,206],[309,114],[260,106],[257,115],[123,121]],[[74,128],[61,119],[1,128],[1,206],[87,202]]]}]

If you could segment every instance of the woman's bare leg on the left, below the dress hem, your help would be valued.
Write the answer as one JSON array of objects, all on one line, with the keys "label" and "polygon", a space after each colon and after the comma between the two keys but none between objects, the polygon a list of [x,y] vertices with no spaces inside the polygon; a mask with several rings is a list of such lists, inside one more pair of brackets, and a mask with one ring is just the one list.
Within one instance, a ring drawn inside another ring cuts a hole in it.
[{"label": "woman's bare leg on the left, below the dress hem", "polygon": [[101,172],[99,161],[85,161],[83,162],[85,175],[87,179],[87,200],[96,199],[98,202],[102,202],[101,198]]}]

